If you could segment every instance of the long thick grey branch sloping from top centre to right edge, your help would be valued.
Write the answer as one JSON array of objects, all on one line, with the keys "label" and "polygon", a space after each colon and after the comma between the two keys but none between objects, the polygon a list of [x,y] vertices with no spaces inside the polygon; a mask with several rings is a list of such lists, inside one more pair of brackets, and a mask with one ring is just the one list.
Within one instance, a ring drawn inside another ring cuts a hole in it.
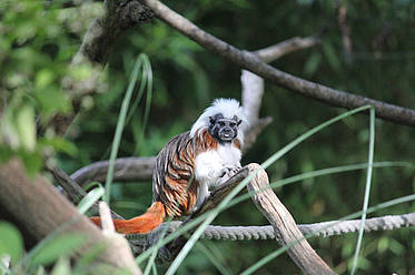
[{"label": "long thick grey branch sloping from top centre to right edge", "polygon": [[265,62],[257,55],[247,51],[240,51],[235,47],[213,37],[209,33],[200,30],[189,20],[170,10],[168,7],[158,0],[141,0],[149,7],[154,13],[161,20],[182,32],[185,35],[195,40],[200,45],[211,50],[220,57],[236,63],[237,65],[263,77],[274,84],[297,92],[304,96],[308,96],[329,105],[340,108],[358,108],[370,104],[376,108],[377,118],[389,120],[396,123],[415,125],[415,111],[369,98],[352,94],[348,92],[338,91],[322,84],[307,81],[292,74],[279,71]]}]

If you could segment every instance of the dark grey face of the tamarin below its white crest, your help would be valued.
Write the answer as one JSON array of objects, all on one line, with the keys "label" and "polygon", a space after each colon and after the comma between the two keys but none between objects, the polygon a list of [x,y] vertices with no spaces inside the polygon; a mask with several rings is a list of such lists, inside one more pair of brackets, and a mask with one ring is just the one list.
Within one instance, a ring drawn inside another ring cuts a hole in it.
[{"label": "dark grey face of the tamarin below its white crest", "polygon": [[231,142],[238,135],[243,121],[238,116],[226,119],[221,113],[209,116],[209,133],[219,142]]}]

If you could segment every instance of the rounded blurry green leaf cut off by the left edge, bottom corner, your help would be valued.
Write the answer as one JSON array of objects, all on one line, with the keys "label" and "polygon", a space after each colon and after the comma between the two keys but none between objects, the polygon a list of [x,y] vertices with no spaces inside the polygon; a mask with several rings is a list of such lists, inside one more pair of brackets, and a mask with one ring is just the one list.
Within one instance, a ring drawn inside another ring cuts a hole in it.
[{"label": "rounded blurry green leaf cut off by the left edge, bottom corner", "polygon": [[10,255],[11,263],[17,263],[23,254],[23,241],[19,230],[7,222],[0,222],[0,257]]}]

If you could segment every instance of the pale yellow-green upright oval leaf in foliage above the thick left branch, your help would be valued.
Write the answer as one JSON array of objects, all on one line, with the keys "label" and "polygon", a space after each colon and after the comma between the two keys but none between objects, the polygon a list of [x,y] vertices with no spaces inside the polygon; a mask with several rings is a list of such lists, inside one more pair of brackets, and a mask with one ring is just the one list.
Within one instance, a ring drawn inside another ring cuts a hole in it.
[{"label": "pale yellow-green upright oval leaf in foliage above the thick left branch", "polygon": [[17,130],[19,133],[20,144],[29,151],[36,146],[36,122],[34,110],[30,105],[22,106],[16,118]]}]

